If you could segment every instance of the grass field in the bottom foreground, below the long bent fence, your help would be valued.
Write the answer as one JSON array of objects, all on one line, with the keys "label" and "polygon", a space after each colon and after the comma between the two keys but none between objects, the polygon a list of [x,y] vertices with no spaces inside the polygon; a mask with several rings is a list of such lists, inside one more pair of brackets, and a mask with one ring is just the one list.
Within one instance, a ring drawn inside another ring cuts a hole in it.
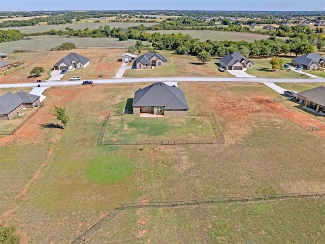
[{"label": "grass field in the bottom foreground, below the long bent fence", "polygon": [[323,199],[295,199],[130,209],[89,243],[323,243],[323,204]]}]

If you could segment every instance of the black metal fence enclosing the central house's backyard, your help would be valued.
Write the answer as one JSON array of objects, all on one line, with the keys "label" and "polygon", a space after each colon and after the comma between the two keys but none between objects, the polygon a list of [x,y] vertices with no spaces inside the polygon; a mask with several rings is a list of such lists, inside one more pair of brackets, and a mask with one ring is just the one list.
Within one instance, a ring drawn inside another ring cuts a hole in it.
[{"label": "black metal fence enclosing the central house's backyard", "polygon": [[188,116],[209,116],[211,117],[210,123],[213,128],[215,139],[192,139],[192,140],[104,140],[109,119],[112,116],[123,115],[123,113],[109,113],[105,117],[104,124],[97,142],[97,145],[186,145],[186,144],[224,144],[224,136],[220,130],[217,120],[213,113],[199,112],[188,113]]}]

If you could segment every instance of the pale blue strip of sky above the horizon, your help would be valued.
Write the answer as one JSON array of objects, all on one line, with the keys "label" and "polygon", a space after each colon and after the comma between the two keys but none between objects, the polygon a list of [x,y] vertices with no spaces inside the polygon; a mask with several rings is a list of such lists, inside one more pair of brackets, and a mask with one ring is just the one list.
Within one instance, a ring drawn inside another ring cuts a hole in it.
[{"label": "pale blue strip of sky above the horizon", "polygon": [[0,11],[140,9],[325,11],[325,0],[0,0]]}]

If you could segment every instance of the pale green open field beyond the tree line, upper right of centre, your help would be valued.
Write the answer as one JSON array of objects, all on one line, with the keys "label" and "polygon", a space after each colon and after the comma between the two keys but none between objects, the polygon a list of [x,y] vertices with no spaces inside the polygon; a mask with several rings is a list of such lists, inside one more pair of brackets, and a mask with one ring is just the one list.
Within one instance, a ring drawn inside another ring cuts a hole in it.
[{"label": "pale green open field beyond the tree line, upper right of centre", "polygon": [[240,33],[240,32],[219,32],[219,31],[184,31],[184,30],[167,30],[167,31],[148,31],[148,33],[159,32],[161,35],[163,34],[172,34],[172,33],[182,33],[184,35],[188,34],[192,38],[199,38],[200,41],[204,42],[206,40],[211,41],[242,41],[245,40],[247,42],[253,42],[255,40],[265,40],[270,36],[267,35],[258,35],[251,33]]}]

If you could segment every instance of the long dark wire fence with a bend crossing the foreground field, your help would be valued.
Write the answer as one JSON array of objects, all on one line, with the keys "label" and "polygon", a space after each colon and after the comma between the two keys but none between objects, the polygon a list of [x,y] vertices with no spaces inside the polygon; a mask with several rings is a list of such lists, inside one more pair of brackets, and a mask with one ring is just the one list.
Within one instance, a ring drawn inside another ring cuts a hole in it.
[{"label": "long dark wire fence with a bend crossing the foreground field", "polygon": [[131,208],[163,208],[163,207],[181,207],[181,206],[196,206],[207,203],[237,203],[237,202],[252,202],[252,201],[268,201],[268,200],[281,200],[281,199],[298,199],[298,198],[320,198],[325,197],[325,192],[302,192],[302,193],[281,193],[274,195],[257,195],[257,196],[244,196],[244,197],[226,197],[226,198],[208,198],[189,201],[172,201],[172,202],[137,202],[123,204],[113,211],[109,212],[103,219],[89,228],[85,233],[80,235],[71,244],[79,244],[86,241],[96,231],[100,230],[105,224],[114,219],[122,210]]}]

